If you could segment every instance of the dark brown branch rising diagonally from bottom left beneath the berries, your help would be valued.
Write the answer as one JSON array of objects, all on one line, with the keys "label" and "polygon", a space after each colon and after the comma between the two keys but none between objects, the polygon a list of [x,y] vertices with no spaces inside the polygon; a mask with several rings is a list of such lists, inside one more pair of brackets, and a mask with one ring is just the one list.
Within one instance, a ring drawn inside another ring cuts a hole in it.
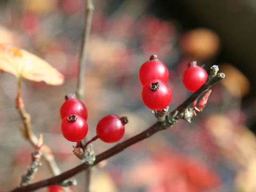
[{"label": "dark brown branch rising diagonally from bottom left beneath the berries", "polygon": [[[151,137],[151,135],[157,133],[158,131],[164,130],[167,127],[170,127],[172,125],[174,125],[178,119],[181,119],[184,117],[184,113],[185,110],[191,105],[191,103],[193,103],[198,97],[200,97],[200,95],[202,95],[203,93],[205,93],[208,89],[210,89],[211,86],[213,86],[214,84],[218,83],[219,81],[221,81],[223,78],[225,78],[225,74],[220,73],[220,74],[216,74],[216,73],[211,73],[209,75],[209,78],[207,79],[206,83],[195,93],[193,93],[185,102],[183,102],[179,107],[177,107],[176,109],[174,109],[168,118],[166,118],[165,122],[156,122],[154,125],[152,125],[151,127],[149,127],[147,130],[139,133],[138,135],[135,135],[134,137],[127,139],[121,143],[118,143],[117,145],[115,145],[114,147],[111,147],[110,149],[102,152],[101,154],[96,156],[96,159],[94,161],[94,163],[91,166],[94,166],[96,164],[98,164],[99,162],[114,156],[118,153],[120,153],[121,151],[123,151],[124,149],[126,149],[127,147],[134,145],[135,143],[142,141],[144,139],[147,139],[149,137]],[[178,111],[178,114],[176,113],[175,120],[176,121],[170,121],[170,119],[172,118],[172,115],[175,114],[175,111]],[[16,188],[10,192],[25,192],[25,191],[33,191],[35,189],[39,189],[42,187],[46,187],[49,185],[54,185],[54,184],[58,184],[60,182],[62,182],[63,180],[66,180],[70,177],[73,177],[75,174],[88,169],[90,166],[86,165],[86,164],[81,164],[76,166],[75,168],[68,170],[66,172],[63,172],[62,174],[49,178],[49,179],[45,179],[42,181],[38,181],[35,183],[32,183],[28,186],[24,186],[24,187],[20,187],[20,188]]]}]

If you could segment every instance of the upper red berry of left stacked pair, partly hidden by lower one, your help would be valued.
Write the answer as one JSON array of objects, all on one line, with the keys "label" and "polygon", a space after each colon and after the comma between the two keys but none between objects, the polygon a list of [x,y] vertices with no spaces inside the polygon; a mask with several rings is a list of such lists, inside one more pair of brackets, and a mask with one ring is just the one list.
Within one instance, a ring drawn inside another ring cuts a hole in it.
[{"label": "upper red berry of left stacked pair, partly hidden by lower one", "polygon": [[88,114],[84,103],[77,99],[75,94],[68,94],[65,96],[65,99],[66,101],[60,108],[61,119],[69,115],[77,114],[82,116],[86,121]]}]

